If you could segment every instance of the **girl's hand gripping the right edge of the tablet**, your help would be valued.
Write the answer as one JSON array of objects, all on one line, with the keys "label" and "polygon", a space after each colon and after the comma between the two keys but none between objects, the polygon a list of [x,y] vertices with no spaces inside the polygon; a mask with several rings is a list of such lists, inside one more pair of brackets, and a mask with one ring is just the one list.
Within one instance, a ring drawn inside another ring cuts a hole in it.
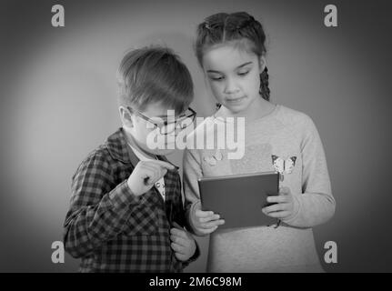
[{"label": "girl's hand gripping the right edge of the tablet", "polygon": [[266,197],[266,202],[276,203],[273,206],[266,206],[262,209],[266,216],[285,219],[293,215],[294,197],[288,187],[281,187],[278,196]]}]

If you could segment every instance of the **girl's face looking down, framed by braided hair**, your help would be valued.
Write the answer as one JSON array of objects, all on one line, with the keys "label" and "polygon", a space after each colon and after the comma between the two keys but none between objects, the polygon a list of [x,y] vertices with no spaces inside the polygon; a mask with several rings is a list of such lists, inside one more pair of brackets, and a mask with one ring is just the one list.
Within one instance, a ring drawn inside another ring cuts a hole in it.
[{"label": "girl's face looking down, framed by braided hair", "polygon": [[234,45],[221,45],[206,51],[203,68],[216,100],[233,114],[248,108],[260,98],[260,74],[264,56]]}]

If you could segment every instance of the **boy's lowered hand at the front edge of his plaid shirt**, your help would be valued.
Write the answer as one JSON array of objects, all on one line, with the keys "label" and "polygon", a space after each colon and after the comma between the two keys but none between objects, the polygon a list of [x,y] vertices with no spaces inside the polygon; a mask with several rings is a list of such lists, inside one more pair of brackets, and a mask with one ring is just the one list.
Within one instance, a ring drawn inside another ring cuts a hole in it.
[{"label": "boy's lowered hand at the front edge of his plaid shirt", "polygon": [[194,256],[196,251],[196,242],[191,234],[189,234],[183,227],[178,226],[170,229],[171,247],[175,251],[175,256],[180,261],[186,261],[191,256]]}]

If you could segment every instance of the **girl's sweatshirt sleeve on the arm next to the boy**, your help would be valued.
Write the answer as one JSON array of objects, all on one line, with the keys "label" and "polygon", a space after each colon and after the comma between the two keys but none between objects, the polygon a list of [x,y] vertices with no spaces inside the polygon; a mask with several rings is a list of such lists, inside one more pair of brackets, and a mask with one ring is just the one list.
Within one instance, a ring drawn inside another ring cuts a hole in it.
[{"label": "girl's sweatshirt sleeve on the arm next to the boy", "polygon": [[197,179],[203,176],[200,156],[197,154],[196,150],[186,148],[184,152],[183,166],[186,221],[193,234],[196,236],[204,236],[197,230],[193,223],[196,209],[201,208]]}]

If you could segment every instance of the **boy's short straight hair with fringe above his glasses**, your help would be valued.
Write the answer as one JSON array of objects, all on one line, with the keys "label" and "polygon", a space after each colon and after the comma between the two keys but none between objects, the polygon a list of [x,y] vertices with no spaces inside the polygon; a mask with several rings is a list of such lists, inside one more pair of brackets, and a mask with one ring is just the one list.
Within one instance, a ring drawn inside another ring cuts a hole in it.
[{"label": "boy's short straight hair with fringe above his glasses", "polygon": [[161,102],[177,114],[193,100],[192,77],[178,55],[162,46],[145,46],[126,53],[117,71],[119,105],[144,111]]}]

